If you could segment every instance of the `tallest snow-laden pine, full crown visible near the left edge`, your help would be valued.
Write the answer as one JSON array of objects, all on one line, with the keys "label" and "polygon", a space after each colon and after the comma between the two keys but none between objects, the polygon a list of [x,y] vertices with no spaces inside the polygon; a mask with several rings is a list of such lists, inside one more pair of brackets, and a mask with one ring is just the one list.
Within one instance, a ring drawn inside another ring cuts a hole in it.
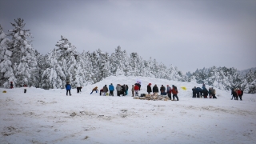
[{"label": "tallest snow-laden pine, full crown visible near the left edge", "polygon": [[[10,24],[14,26],[14,29],[9,30],[10,33],[8,34],[8,36],[12,38],[9,46],[9,50],[12,52],[10,61],[12,63],[17,63],[18,67],[22,68],[22,70],[14,70],[14,76],[20,77],[16,77],[19,86],[25,84],[22,82],[27,82],[27,85],[33,86],[32,81],[30,81],[30,74],[34,73],[35,66],[37,66],[37,60],[35,50],[27,39],[33,38],[32,34],[30,34],[30,30],[23,30],[26,23],[24,23],[22,18],[18,18],[17,20],[14,19],[14,23]],[[20,65],[20,63],[22,64]],[[26,71],[30,74],[25,74]],[[18,72],[18,74],[15,74],[15,72]]]}]

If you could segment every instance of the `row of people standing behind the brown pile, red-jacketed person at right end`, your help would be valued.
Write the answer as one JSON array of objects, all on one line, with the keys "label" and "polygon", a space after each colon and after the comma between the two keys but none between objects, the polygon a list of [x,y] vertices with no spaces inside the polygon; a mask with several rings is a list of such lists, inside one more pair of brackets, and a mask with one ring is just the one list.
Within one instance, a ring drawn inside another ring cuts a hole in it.
[{"label": "row of people standing behind the brown pile, red-jacketed person at right end", "polygon": [[[146,89],[147,93],[150,94],[151,92],[153,93],[159,93],[159,89],[158,89],[158,86],[155,84],[153,86],[153,89],[151,89],[151,83],[149,83],[147,85],[147,89]],[[170,100],[174,101],[175,98],[177,98],[177,101],[178,101],[178,90],[177,90],[177,87],[176,86],[172,86],[172,88],[167,85],[166,87],[165,86],[161,86],[160,87],[160,94],[161,95],[168,95],[168,97],[170,98]],[[173,94],[173,98],[171,98],[171,94]]]}]

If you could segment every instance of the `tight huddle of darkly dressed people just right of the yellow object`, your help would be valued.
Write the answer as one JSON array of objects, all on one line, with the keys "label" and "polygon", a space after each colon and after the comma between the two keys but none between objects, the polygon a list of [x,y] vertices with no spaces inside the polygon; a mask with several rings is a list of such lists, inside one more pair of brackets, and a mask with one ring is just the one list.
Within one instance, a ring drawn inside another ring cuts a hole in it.
[{"label": "tight huddle of darkly dressed people just right of the yellow object", "polygon": [[192,89],[193,96],[192,98],[217,98],[216,90],[214,87],[210,87],[209,90],[206,89],[206,86],[202,84],[202,88],[194,86]]}]

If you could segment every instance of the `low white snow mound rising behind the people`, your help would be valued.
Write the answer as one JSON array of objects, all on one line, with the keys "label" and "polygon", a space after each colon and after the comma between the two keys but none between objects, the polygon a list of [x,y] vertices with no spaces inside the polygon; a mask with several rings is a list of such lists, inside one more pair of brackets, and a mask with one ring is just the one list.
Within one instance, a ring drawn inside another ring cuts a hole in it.
[{"label": "low white snow mound rising behind the people", "polygon": [[[83,89],[86,90],[86,92],[89,94],[95,86],[98,86],[98,90],[101,90],[103,86],[105,85],[109,86],[110,83],[112,83],[114,87],[116,87],[117,84],[121,84],[121,85],[126,84],[129,86],[129,90],[128,90],[128,94],[129,94],[131,90],[131,86],[134,85],[137,81],[140,81],[142,85],[141,90],[139,91],[139,94],[147,94],[146,86],[149,83],[152,84],[151,88],[153,88],[153,86],[156,84],[159,90],[162,85],[165,87],[167,85],[169,85],[170,87],[174,85],[174,86],[177,86],[178,97],[181,97],[181,98],[189,98],[189,97],[192,98],[192,88],[194,86],[202,87],[202,84],[198,84],[196,82],[178,82],[178,81],[170,81],[170,80],[160,79],[160,78],[146,78],[146,77],[134,77],[134,76],[126,77],[126,76],[120,75],[120,76],[110,76],[110,77],[104,78],[101,82],[97,82],[90,86],[85,86]],[[181,88],[182,86],[186,86],[186,90],[182,90]],[[207,89],[209,87],[212,87],[212,86],[206,85]],[[218,97],[231,98],[230,92],[227,92],[225,90],[220,90],[215,87],[214,89],[216,90],[217,98]]]}]

